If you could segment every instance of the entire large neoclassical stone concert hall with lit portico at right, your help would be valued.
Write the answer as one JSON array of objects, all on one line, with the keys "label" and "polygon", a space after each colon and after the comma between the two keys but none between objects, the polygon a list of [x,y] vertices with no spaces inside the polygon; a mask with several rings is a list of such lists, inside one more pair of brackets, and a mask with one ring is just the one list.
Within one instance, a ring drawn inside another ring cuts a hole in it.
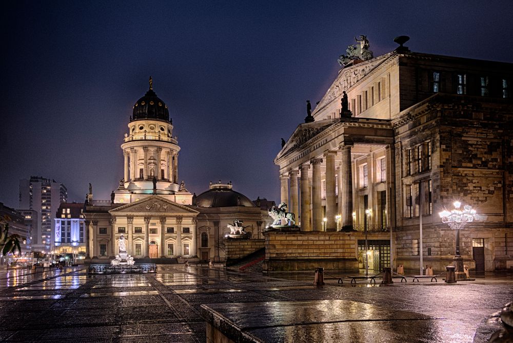
[{"label": "entire large neoclassical stone concert hall with lit portico at right", "polygon": [[[513,266],[511,63],[415,53],[405,47],[341,69],[274,162],[281,201],[302,230],[367,230],[376,270],[444,270],[454,233],[438,212],[454,200],[485,221],[461,232],[465,264]],[[348,111],[342,111],[343,91]],[[420,218],[423,239],[420,241]],[[353,231],[356,230],[356,231]]]}]

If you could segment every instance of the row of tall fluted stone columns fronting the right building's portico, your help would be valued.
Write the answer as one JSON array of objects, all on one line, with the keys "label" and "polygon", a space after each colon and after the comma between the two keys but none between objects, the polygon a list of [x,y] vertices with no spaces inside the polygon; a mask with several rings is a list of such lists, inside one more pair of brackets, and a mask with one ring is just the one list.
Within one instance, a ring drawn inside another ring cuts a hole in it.
[{"label": "row of tall fluted stone columns fronting the right building's portico", "polygon": [[[321,164],[325,160],[325,194],[326,194],[326,231],[337,230],[338,213],[341,215],[341,226],[352,226],[353,203],[352,203],[352,166],[351,166],[352,144],[342,144],[337,150],[329,150],[323,154],[323,158],[312,158],[303,163],[297,169],[291,169],[287,174],[280,176],[281,202],[289,204],[289,211],[294,213],[296,221],[299,222],[299,209],[301,208],[301,230],[322,231],[323,230],[323,208],[321,195]],[[336,156],[341,157],[339,169],[339,208],[337,208],[336,197]],[[311,165],[311,185],[310,185]],[[301,173],[301,174],[300,174]],[[298,189],[298,175],[300,182]],[[288,183],[290,182],[290,198]],[[301,199],[299,199],[301,194]],[[300,203],[301,201],[301,203]],[[300,204],[300,206],[299,206]],[[310,210],[311,208],[311,210]]]}]

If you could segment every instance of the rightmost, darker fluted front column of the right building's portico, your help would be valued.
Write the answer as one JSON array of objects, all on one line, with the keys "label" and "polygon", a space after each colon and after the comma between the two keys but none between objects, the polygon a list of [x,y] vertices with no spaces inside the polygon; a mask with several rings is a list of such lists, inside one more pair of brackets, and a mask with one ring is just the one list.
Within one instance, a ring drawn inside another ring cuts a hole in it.
[{"label": "rightmost, darker fluted front column of the right building's portico", "polygon": [[339,202],[341,203],[342,228],[352,228],[353,226],[351,147],[352,144],[343,144],[340,147],[342,160],[340,161]]}]

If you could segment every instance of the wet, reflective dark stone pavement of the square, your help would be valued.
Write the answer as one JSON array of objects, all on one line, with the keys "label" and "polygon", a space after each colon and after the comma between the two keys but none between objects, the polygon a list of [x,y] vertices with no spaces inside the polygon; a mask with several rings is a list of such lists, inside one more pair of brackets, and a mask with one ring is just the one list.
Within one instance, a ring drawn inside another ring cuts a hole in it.
[{"label": "wet, reflective dark stone pavement of the square", "polygon": [[318,289],[313,272],[262,276],[182,265],[92,277],[80,267],[3,270],[0,341],[205,342],[200,307],[210,304],[241,315],[241,328],[266,341],[484,342],[492,334],[486,318],[513,300],[511,274],[451,285],[325,281]]}]

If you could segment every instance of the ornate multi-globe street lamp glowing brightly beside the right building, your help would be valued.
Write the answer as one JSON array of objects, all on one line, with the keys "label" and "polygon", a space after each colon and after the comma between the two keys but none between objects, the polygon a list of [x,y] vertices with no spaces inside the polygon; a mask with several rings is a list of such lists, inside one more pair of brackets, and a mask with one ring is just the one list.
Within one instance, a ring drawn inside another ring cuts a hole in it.
[{"label": "ornate multi-globe street lamp glowing brightly beside the right building", "polygon": [[456,254],[452,259],[456,265],[456,278],[466,278],[465,272],[463,271],[463,258],[460,254],[460,230],[462,230],[467,223],[473,222],[476,217],[476,210],[472,209],[470,205],[463,206],[463,210],[460,209],[461,202],[455,201],[453,203],[454,209],[450,212],[443,210],[438,213],[442,218],[442,223],[449,225],[453,230],[456,230]]}]

